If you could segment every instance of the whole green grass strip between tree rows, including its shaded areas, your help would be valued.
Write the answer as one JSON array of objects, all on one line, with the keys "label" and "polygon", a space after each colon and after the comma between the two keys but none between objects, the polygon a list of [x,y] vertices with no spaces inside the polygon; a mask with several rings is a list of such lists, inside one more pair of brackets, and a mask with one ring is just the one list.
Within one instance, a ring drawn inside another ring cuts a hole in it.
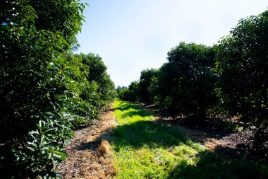
[{"label": "whole green grass strip between tree rows, including its shaded areas", "polygon": [[267,178],[267,163],[231,159],[192,142],[144,108],[116,100],[116,178]]}]

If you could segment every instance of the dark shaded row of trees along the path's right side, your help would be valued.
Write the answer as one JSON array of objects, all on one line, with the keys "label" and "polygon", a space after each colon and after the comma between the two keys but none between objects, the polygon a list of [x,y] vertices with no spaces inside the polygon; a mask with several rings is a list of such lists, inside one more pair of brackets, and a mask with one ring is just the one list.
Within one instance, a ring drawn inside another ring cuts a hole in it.
[{"label": "dark shaded row of trees along the path's right side", "polygon": [[117,88],[123,100],[154,103],[193,122],[238,117],[263,137],[268,126],[268,11],[239,21],[213,47],[181,42],[159,69]]}]

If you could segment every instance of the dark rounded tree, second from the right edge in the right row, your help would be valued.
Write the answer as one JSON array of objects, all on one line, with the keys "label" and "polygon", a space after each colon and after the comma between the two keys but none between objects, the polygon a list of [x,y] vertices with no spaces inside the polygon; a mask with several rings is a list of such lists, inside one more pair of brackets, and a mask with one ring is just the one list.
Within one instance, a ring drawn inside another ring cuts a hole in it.
[{"label": "dark rounded tree, second from the right edge in the right row", "polygon": [[177,116],[205,119],[216,102],[213,47],[181,42],[167,59],[154,84],[157,103]]}]

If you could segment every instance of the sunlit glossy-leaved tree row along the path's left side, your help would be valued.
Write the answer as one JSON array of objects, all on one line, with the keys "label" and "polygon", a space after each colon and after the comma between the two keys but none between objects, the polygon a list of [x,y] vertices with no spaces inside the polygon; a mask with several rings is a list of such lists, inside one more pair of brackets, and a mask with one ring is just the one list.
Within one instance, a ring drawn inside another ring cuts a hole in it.
[{"label": "sunlit glossy-leaved tree row along the path's left side", "polygon": [[0,3],[1,178],[56,178],[73,127],[114,100],[102,58],[71,52],[84,8],[76,0]]}]

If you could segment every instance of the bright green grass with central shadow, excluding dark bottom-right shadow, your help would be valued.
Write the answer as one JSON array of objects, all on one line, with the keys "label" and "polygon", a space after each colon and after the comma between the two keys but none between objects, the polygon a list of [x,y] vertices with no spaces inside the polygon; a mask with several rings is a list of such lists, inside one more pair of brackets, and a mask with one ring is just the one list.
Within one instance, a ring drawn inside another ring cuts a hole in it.
[{"label": "bright green grass with central shadow, excluding dark bottom-right shadow", "polygon": [[191,146],[178,130],[153,122],[152,114],[137,105],[117,100],[114,108],[117,178],[169,178],[181,163],[195,165],[200,145]]}]

